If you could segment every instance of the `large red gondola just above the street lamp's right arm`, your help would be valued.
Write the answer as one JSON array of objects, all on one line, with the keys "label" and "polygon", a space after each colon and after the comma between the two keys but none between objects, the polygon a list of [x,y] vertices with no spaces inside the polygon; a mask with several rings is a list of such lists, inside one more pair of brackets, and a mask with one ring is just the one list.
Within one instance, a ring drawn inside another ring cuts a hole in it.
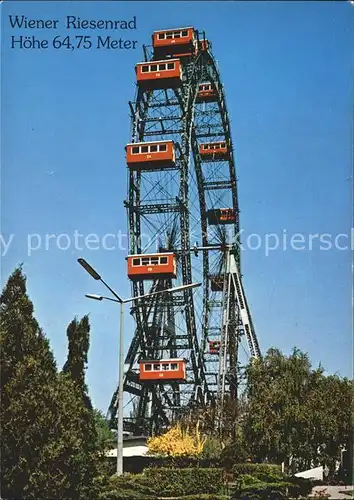
[{"label": "large red gondola just above the street lamp's right arm", "polygon": [[151,255],[129,255],[128,278],[131,280],[154,280],[176,278],[176,255],[172,252]]}]

